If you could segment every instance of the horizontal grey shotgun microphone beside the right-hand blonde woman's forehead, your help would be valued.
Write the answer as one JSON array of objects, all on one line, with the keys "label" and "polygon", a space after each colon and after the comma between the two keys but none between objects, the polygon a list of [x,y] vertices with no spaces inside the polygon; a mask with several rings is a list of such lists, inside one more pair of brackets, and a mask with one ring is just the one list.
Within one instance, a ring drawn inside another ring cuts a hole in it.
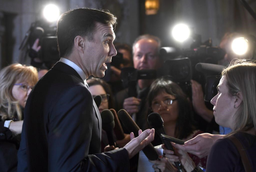
[{"label": "horizontal grey shotgun microphone beside the right-hand blonde woman's forehead", "polygon": [[225,66],[209,63],[198,63],[195,65],[195,69],[198,72],[218,75],[225,68]]}]

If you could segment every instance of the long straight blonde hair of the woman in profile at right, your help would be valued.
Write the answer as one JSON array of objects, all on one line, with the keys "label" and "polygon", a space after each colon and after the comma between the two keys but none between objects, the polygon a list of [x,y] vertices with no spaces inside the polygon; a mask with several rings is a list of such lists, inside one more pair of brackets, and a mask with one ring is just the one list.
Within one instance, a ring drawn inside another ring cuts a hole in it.
[{"label": "long straight blonde hair of the woman in profile at right", "polygon": [[256,61],[234,60],[222,71],[222,76],[226,76],[231,96],[237,96],[238,92],[243,96],[234,114],[232,133],[256,129]]}]

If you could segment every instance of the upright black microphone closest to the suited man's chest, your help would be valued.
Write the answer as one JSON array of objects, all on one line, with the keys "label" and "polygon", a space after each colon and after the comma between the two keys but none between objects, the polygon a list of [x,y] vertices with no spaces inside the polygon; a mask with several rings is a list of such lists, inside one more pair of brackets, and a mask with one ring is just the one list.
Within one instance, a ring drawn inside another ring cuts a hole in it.
[{"label": "upright black microphone closest to the suited man's chest", "polygon": [[107,132],[109,145],[115,146],[113,137],[113,128],[115,127],[114,116],[108,109],[102,110],[100,116],[102,119],[102,129]]}]

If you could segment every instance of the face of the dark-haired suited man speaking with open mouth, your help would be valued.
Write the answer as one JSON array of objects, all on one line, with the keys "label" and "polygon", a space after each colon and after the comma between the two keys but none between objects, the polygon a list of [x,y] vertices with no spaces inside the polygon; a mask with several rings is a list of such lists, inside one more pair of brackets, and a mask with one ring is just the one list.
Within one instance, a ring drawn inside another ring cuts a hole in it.
[{"label": "face of the dark-haired suited man speaking with open mouth", "polygon": [[107,70],[105,63],[110,63],[112,56],[117,54],[113,45],[115,33],[112,25],[96,22],[93,38],[92,41],[86,40],[82,63],[89,76],[103,77]]}]

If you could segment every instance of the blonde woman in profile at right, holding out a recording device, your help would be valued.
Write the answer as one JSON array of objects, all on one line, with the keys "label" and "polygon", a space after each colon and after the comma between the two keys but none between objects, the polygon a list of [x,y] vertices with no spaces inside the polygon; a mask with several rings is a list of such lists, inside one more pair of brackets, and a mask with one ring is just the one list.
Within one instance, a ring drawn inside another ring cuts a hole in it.
[{"label": "blonde woman in profile at right, holding out a recording device", "polygon": [[231,63],[223,69],[217,88],[218,94],[211,100],[213,115],[219,125],[231,128],[232,132],[224,137],[217,135],[220,138],[217,141],[215,135],[199,135],[194,138],[195,146],[176,144],[178,156],[164,150],[165,156],[180,159],[186,171],[193,168],[193,171],[200,171],[182,150],[191,152],[194,147],[193,152],[196,153],[198,148],[208,148],[214,142],[208,154],[207,172],[256,171],[256,62],[237,60]]}]

